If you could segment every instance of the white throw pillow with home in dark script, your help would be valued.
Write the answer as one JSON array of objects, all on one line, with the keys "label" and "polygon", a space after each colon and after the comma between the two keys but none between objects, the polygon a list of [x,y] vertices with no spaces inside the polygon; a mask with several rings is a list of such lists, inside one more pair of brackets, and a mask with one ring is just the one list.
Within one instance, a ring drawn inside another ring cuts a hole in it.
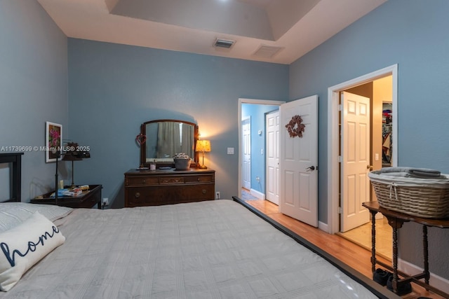
[{"label": "white throw pillow with home in dark script", "polygon": [[9,291],[35,263],[65,242],[58,227],[36,211],[0,234],[0,290]]}]

